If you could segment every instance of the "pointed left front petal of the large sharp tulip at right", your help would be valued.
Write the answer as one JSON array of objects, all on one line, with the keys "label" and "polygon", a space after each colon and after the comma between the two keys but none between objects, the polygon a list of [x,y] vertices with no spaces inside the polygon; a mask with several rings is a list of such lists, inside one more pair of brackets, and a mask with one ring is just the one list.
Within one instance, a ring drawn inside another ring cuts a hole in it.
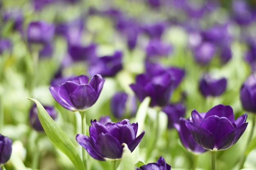
[{"label": "pointed left front petal of the large sharp tulip at right", "polygon": [[213,150],[215,145],[214,135],[207,129],[204,129],[193,122],[186,122],[186,127],[190,130],[195,141],[203,148]]}]

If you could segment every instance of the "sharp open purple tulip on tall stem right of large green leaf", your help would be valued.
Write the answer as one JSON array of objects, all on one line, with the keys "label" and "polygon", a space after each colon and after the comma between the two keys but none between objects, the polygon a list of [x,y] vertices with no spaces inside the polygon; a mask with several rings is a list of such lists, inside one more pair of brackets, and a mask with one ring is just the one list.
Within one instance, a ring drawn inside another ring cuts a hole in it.
[{"label": "sharp open purple tulip on tall stem right of large green leaf", "polygon": [[51,85],[49,90],[54,99],[70,111],[84,111],[95,104],[105,79],[101,75],[89,77],[80,75],[60,85]]}]

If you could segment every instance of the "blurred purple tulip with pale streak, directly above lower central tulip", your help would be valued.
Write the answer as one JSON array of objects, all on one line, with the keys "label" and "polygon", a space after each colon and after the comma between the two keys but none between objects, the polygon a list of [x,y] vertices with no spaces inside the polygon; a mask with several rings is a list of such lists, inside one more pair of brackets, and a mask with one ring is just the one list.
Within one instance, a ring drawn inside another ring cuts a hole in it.
[{"label": "blurred purple tulip with pale streak, directly above lower central tulip", "polygon": [[[117,92],[112,97],[110,102],[110,109],[117,119],[133,117],[137,111],[136,99],[133,96],[128,96],[125,92]],[[127,113],[127,114],[126,114]]]}]

